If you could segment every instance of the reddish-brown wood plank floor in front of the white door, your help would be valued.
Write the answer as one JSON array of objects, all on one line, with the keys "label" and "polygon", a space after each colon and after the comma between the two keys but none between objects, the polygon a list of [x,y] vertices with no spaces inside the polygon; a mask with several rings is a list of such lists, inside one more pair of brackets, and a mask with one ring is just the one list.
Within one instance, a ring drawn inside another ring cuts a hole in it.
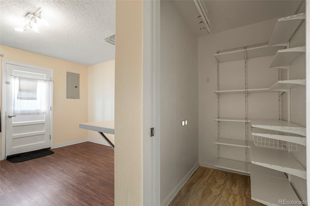
[{"label": "reddish-brown wood plank floor in front of the white door", "polygon": [[34,160],[0,161],[1,206],[114,205],[114,150],[91,142]]}]

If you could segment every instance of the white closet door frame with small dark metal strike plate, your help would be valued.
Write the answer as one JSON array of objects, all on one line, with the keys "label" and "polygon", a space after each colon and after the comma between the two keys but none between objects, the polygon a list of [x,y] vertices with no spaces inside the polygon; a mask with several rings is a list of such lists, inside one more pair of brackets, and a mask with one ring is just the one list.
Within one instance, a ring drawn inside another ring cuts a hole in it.
[{"label": "white closet door frame with small dark metal strike plate", "polygon": [[[143,205],[160,205],[160,1],[143,1]],[[150,136],[150,128],[155,128]]]}]

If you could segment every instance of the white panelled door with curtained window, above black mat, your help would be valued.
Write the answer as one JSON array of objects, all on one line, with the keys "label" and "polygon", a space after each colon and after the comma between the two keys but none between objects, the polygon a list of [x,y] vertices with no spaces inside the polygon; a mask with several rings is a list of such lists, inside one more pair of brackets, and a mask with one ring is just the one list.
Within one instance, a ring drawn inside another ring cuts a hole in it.
[{"label": "white panelled door with curtained window, above black mat", "polygon": [[52,71],[4,66],[5,156],[50,147]]}]

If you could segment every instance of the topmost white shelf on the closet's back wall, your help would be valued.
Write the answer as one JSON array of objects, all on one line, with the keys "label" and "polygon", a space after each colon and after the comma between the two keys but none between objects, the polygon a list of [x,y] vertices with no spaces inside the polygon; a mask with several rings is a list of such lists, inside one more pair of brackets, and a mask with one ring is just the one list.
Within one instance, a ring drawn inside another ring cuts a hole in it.
[{"label": "topmost white shelf on the closet's back wall", "polygon": [[[274,55],[279,49],[282,49],[283,46],[257,46],[253,48],[247,48],[247,58],[255,57],[264,57],[269,55]],[[217,59],[217,62],[226,62],[245,59],[245,49],[239,49],[230,52],[224,52],[215,54],[214,57]]]}]

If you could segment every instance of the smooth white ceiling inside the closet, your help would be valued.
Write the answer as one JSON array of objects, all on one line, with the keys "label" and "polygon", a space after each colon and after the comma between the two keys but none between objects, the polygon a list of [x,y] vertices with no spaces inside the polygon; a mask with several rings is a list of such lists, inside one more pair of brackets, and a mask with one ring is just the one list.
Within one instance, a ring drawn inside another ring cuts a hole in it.
[{"label": "smooth white ceiling inside the closet", "polygon": [[[294,15],[301,0],[202,0],[208,10],[211,33],[243,27],[265,20]],[[174,0],[186,23],[197,36],[200,30],[199,13],[192,0]]]}]

